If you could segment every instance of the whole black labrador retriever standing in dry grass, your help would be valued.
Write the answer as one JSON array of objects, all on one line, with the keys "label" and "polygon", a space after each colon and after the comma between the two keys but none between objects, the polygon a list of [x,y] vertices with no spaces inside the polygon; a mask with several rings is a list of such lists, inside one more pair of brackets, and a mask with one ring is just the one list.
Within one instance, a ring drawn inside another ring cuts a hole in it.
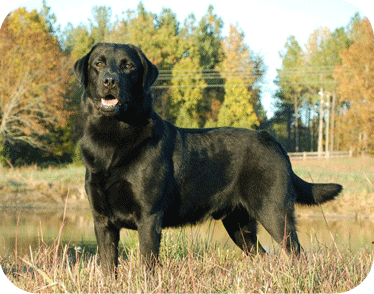
[{"label": "whole black labrador retriever standing in dry grass", "polygon": [[264,253],[260,222],[289,252],[300,251],[294,203],[333,199],[338,184],[294,174],[282,146],[265,131],[182,129],[152,107],[158,69],[130,44],[99,43],[74,66],[84,87],[81,150],[101,263],[118,264],[120,229],[138,230],[153,265],[161,230],[222,220],[248,253]]}]

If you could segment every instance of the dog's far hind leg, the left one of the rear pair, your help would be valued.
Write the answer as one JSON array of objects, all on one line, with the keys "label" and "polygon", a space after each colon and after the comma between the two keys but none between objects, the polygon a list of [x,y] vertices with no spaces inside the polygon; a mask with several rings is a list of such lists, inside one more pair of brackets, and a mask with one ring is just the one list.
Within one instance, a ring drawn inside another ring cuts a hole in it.
[{"label": "dog's far hind leg, the left one of the rear pair", "polygon": [[222,220],[234,243],[247,254],[266,253],[257,240],[257,221],[245,209],[236,209]]}]

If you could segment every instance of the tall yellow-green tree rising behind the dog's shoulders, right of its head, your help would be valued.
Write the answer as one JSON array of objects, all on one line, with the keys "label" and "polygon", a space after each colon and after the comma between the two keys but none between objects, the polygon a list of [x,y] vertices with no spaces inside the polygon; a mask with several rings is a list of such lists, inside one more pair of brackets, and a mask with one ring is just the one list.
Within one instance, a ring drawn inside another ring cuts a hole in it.
[{"label": "tall yellow-green tree rising behind the dog's shoulders, right of its head", "polygon": [[214,14],[213,6],[197,22],[193,14],[185,20],[180,33],[183,55],[173,67],[170,102],[178,126],[204,125],[204,113],[211,99],[207,89],[212,82],[209,73],[220,61],[222,20]]}]

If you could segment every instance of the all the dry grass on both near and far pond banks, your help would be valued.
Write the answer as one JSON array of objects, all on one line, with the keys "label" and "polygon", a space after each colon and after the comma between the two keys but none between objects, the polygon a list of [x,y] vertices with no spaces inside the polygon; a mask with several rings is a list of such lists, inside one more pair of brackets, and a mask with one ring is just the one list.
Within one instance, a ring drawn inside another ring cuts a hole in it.
[{"label": "all the dry grass on both near and far pond banks", "polygon": [[[322,206],[326,216],[373,217],[372,158],[295,161],[293,166],[306,180],[344,185],[341,196]],[[19,207],[60,207],[67,195],[68,206],[87,203],[82,190],[82,167],[33,167],[0,173],[5,175],[0,179],[3,208],[12,207],[14,194]],[[320,214],[321,208],[298,207],[297,213]],[[139,263],[136,236],[132,234],[127,238],[130,242],[122,244],[117,280],[101,272],[95,248],[62,244],[60,235],[53,244],[44,243],[41,238],[36,248],[30,247],[30,252],[22,256],[16,246],[13,255],[0,257],[0,265],[12,283],[33,293],[331,293],[359,285],[374,259],[372,244],[353,252],[348,246],[326,247],[317,241],[300,257],[288,256],[279,248],[265,256],[249,258],[239,250],[217,246],[211,238],[190,236],[188,230],[181,230],[177,237],[165,230],[160,252],[162,266],[150,273]]]}]

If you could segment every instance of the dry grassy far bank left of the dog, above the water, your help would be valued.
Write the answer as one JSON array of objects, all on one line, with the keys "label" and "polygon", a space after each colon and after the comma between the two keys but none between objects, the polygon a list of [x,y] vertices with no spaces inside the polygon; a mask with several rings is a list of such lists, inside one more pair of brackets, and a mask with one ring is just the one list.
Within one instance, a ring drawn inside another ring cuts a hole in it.
[{"label": "dry grassy far bank left of the dog, above the water", "polygon": [[0,208],[63,207],[67,196],[70,206],[88,207],[84,167],[0,168],[0,175]]}]

